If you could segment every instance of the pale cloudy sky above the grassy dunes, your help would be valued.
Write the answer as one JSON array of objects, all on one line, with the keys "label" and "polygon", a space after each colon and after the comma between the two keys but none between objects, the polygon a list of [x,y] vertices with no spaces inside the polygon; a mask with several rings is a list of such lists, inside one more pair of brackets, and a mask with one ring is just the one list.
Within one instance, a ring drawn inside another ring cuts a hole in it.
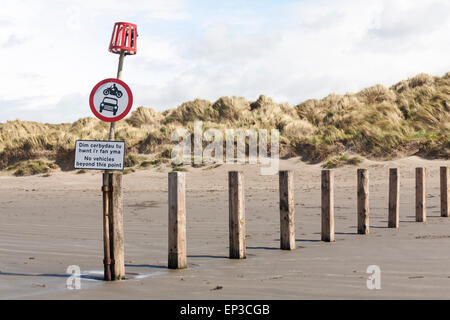
[{"label": "pale cloudy sky above the grassy dunes", "polygon": [[0,0],[0,121],[71,122],[114,77],[116,21],[138,25],[134,108],[221,96],[300,103],[450,71],[448,0]]}]

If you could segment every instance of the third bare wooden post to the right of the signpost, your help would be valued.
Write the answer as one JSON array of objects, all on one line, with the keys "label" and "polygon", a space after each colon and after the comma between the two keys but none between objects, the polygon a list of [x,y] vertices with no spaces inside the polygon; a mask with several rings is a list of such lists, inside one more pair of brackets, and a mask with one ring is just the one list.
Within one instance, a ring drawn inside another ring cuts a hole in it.
[{"label": "third bare wooden post to the right of the signpost", "polygon": [[295,250],[294,173],[280,171],[280,247]]}]

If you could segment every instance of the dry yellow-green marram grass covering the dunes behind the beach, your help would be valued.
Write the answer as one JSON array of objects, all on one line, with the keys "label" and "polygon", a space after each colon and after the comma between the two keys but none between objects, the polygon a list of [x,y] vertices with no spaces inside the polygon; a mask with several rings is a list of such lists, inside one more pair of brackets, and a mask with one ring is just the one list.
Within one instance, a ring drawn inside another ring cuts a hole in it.
[{"label": "dry yellow-green marram grass covering the dunes behind the beach", "polygon": [[[419,74],[390,88],[376,85],[296,106],[262,95],[254,102],[242,97],[222,97],[214,103],[196,99],[164,112],[139,107],[117,123],[116,138],[126,141],[129,153],[152,154],[149,163],[160,165],[170,156],[173,130],[192,130],[195,120],[203,121],[204,129],[277,128],[282,156],[329,160],[331,166],[342,163],[333,159],[342,160],[347,153],[367,158],[448,159],[450,73],[443,77]],[[0,124],[0,169],[45,158],[70,170],[75,140],[103,140],[107,132],[108,124],[94,118],[57,125],[8,121]],[[134,167],[140,167],[139,161]]]}]

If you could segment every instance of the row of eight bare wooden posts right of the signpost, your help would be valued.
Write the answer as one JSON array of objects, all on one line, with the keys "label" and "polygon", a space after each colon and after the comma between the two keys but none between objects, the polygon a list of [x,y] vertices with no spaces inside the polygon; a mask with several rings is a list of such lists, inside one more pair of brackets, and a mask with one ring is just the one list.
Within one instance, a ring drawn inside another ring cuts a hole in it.
[{"label": "row of eight bare wooden posts right of the signpost", "polygon": [[[322,230],[321,239],[335,241],[334,232],[334,175],[322,170]],[[185,174],[169,173],[169,257],[170,269],[187,267],[186,258],[186,196]],[[440,168],[441,216],[449,216],[449,172]],[[229,189],[229,258],[245,259],[244,181],[240,171],[228,172]],[[280,192],[280,248],[295,249],[294,175],[293,171],[279,172]],[[400,179],[397,168],[389,170],[388,227],[399,227]],[[357,170],[358,234],[369,234],[369,171]],[[426,168],[416,168],[416,221],[426,221]]]}]

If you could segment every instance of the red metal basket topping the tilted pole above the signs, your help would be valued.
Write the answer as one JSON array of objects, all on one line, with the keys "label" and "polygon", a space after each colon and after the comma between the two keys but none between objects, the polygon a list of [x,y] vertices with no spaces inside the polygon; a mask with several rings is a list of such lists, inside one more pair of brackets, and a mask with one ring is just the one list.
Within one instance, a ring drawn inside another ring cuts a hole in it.
[{"label": "red metal basket topping the tilted pole above the signs", "polygon": [[116,22],[114,24],[109,51],[126,55],[136,54],[137,26],[128,22]]}]

